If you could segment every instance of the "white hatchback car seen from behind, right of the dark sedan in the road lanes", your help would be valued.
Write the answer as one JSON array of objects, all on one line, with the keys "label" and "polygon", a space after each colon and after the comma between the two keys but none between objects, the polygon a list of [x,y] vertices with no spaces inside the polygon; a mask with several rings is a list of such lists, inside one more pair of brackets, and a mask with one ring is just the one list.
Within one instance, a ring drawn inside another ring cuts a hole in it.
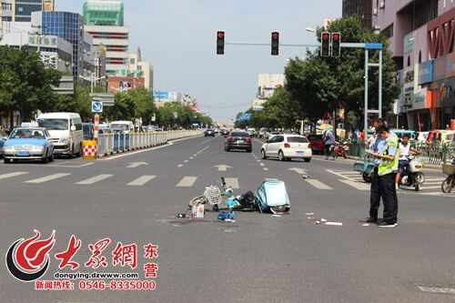
[{"label": "white hatchback car seen from behind, right of the dark sedan in the road lanes", "polygon": [[306,162],[311,161],[311,148],[305,136],[283,134],[272,136],[260,148],[263,159],[278,157],[281,161],[290,161],[292,158],[301,158]]}]

